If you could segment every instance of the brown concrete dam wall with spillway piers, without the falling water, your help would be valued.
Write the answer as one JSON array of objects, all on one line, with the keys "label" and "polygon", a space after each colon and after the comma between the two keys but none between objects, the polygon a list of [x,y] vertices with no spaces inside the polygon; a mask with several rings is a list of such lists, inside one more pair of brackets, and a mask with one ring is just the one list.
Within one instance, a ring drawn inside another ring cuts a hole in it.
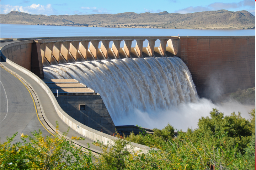
[{"label": "brown concrete dam wall with spillway piers, without the falling water", "polygon": [[[143,51],[145,39],[149,40],[148,51]],[[158,48],[154,47],[157,39],[161,41]],[[44,78],[45,61],[58,64],[61,60],[79,61],[79,57],[85,61],[87,53],[88,56],[97,56],[98,51],[102,56],[105,55],[104,58],[111,58],[106,55],[108,50],[111,52],[113,46],[108,49],[108,45],[113,41],[116,44],[112,52],[114,56],[117,54],[116,57],[119,51],[123,52],[125,57],[132,57],[134,50],[138,57],[143,57],[147,52],[149,57],[155,57],[155,52],[152,51],[154,48],[160,51],[157,56],[172,53],[180,57],[190,70],[200,97],[214,99],[236,89],[255,87],[255,36],[66,37],[22,40],[2,47],[1,53],[12,62],[31,70],[41,79]],[[119,47],[121,40],[126,41],[123,49]],[[133,40],[136,40],[137,44],[131,49]],[[94,46],[100,41],[105,44],[94,52]],[[89,42],[91,45],[88,47]],[[65,56],[70,56],[72,60]]]}]

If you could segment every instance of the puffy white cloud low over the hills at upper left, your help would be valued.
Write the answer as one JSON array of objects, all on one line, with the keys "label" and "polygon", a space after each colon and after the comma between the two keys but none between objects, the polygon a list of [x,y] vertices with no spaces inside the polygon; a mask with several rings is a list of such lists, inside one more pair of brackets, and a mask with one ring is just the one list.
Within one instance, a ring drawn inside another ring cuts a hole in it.
[{"label": "puffy white cloud low over the hills at upper left", "polygon": [[51,4],[46,6],[40,4],[32,4],[30,6],[12,6],[12,5],[1,5],[1,13],[7,14],[11,11],[25,12],[29,14],[42,14],[42,15],[52,15],[55,10]]}]

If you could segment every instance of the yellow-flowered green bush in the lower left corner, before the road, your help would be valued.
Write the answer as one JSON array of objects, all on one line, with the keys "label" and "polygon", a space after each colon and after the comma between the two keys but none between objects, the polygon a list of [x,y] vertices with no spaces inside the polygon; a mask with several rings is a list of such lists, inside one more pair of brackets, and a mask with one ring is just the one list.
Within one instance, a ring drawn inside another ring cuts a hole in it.
[{"label": "yellow-flowered green bush in the lower left corner, before the road", "polygon": [[[32,137],[21,134],[22,142],[11,144],[17,136],[16,132],[12,137],[7,137],[7,142],[1,144],[1,169],[85,170],[94,168],[92,153],[89,152],[87,155],[81,147],[75,147],[74,143],[66,140],[64,136],[58,138],[57,134],[54,137],[43,137],[40,129],[39,132],[31,133]],[[74,139],[82,138],[74,137]]]}]

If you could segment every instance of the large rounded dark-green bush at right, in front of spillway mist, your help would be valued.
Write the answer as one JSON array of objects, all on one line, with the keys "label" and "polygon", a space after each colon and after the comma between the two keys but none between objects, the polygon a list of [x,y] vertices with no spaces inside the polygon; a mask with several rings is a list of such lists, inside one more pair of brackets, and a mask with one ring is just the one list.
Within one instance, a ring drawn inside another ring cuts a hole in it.
[{"label": "large rounded dark-green bush at right, in front of spillway mist", "polygon": [[241,113],[236,115],[231,113],[229,116],[213,109],[209,117],[202,117],[198,121],[198,128],[187,130],[188,138],[193,142],[200,141],[202,138],[220,139],[220,144],[226,149],[232,149],[238,145],[240,152],[244,151],[250,141],[252,131],[250,121],[241,117]]}]

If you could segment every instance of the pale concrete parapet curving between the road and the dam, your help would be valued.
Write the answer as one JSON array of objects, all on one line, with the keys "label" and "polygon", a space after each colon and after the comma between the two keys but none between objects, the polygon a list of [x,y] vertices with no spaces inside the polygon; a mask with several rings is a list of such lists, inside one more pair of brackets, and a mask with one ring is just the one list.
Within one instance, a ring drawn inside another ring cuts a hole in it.
[{"label": "pale concrete parapet curving between the road and the dam", "polygon": [[[23,41],[24,42],[24,41]],[[30,41],[27,41],[27,43],[31,43]],[[29,70],[27,70],[26,68],[23,68],[21,66],[19,66],[18,64],[10,61],[8,58],[6,58],[3,54],[2,54],[2,49],[7,49],[11,46],[14,46],[14,44],[9,44],[6,45],[4,47],[1,48],[1,56],[6,60],[6,62],[8,64],[10,64],[12,67],[20,70],[21,72],[27,74],[29,77],[31,77],[34,81],[36,81],[43,89],[44,91],[46,91],[46,93],[48,94],[50,100],[53,103],[53,106],[55,108],[55,111],[57,112],[57,114],[59,115],[59,117],[68,125],[70,126],[70,128],[74,129],[75,131],[77,131],[79,134],[90,138],[91,140],[94,141],[99,141],[101,143],[103,143],[103,145],[107,145],[108,143],[110,145],[112,145],[114,143],[115,140],[117,140],[117,137],[111,136],[111,135],[107,135],[104,134],[100,131],[94,130],[92,128],[89,128],[88,126],[85,126],[81,123],[79,123],[78,121],[76,121],[75,119],[73,119],[72,117],[70,117],[67,113],[65,113],[63,111],[63,109],[59,106],[55,96],[53,95],[52,91],[49,89],[49,87],[40,79],[38,78],[34,73],[30,72]],[[19,45],[19,44],[17,44]],[[127,146],[127,148],[130,149],[130,151],[139,151],[141,150],[141,153],[146,153],[149,150],[151,150],[150,147],[148,146],[144,146],[144,145],[140,145],[138,143],[133,143],[131,142],[130,145]]]}]

